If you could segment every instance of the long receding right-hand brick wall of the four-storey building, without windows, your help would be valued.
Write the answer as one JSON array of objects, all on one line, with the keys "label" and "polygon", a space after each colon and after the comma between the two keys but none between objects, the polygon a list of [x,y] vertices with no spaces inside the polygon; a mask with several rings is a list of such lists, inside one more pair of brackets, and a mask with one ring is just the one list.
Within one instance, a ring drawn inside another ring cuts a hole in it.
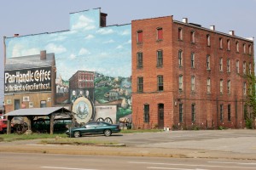
[{"label": "long receding right-hand brick wall of the four-storey building, without windows", "polygon": [[[183,40],[178,40],[178,28],[183,29]],[[195,31],[195,43],[190,42],[190,31]],[[207,46],[207,34],[211,37],[211,46]],[[219,48],[219,38],[223,39],[223,48]],[[230,39],[230,51],[227,50],[227,39]],[[236,53],[236,41],[240,44],[240,52]],[[184,119],[182,125],[189,127],[191,122],[191,105],[196,105],[196,122],[200,127],[242,127],[243,82],[246,78],[242,74],[242,63],[253,64],[253,55],[243,54],[242,44],[252,44],[240,38],[218,34],[215,31],[198,29],[193,26],[175,23],[173,25],[173,63],[178,63],[178,50],[183,50],[183,66],[175,65],[178,75],[183,75],[184,90],[177,93],[184,106]],[[191,68],[190,54],[195,53],[195,68]],[[248,52],[248,49],[247,49]],[[207,54],[211,56],[211,70],[207,71]],[[176,55],[176,56],[175,56]],[[223,71],[219,71],[219,59],[223,58]],[[227,59],[231,59],[230,72],[227,72]],[[236,73],[236,60],[239,59],[240,74]],[[252,65],[253,66],[253,65]],[[247,68],[248,69],[248,68]],[[252,67],[253,71],[253,67]],[[175,71],[174,71],[175,74]],[[191,76],[195,76],[195,93],[191,92]],[[211,94],[207,94],[207,78],[211,79]],[[220,94],[220,79],[224,80],[223,94]],[[230,94],[227,93],[227,81],[231,82]],[[178,82],[176,83],[178,86]],[[177,89],[178,87],[176,87]],[[236,102],[237,101],[237,102]],[[224,105],[224,121],[219,120],[219,105]],[[231,121],[228,121],[228,105],[231,105]],[[177,112],[176,110],[175,112]],[[174,113],[175,115],[175,113]],[[178,116],[174,117],[178,123]]]}]

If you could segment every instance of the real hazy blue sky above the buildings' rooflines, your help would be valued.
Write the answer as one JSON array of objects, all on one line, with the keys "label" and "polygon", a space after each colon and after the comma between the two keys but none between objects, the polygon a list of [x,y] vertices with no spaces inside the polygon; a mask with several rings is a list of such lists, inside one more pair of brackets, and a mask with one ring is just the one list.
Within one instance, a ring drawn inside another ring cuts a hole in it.
[{"label": "real hazy blue sky above the buildings' rooflines", "polygon": [[[238,37],[256,36],[256,0],[8,0],[0,6],[0,41],[3,37],[69,30],[69,13],[102,8],[107,25],[173,15],[217,31],[235,31]],[[90,38],[90,37],[88,37]],[[81,53],[86,53],[86,50]],[[72,56],[71,56],[72,57]],[[3,45],[0,46],[0,102],[3,102]]]}]

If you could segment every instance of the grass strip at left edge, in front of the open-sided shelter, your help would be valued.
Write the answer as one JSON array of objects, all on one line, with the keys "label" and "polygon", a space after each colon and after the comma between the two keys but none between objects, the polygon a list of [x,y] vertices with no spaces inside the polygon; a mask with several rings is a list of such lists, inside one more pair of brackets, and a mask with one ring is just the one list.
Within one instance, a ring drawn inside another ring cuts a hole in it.
[{"label": "grass strip at left edge, in front of the open-sided shelter", "polygon": [[3,139],[3,142],[12,142],[15,140],[31,140],[31,139],[54,139],[56,137],[67,138],[67,134],[48,134],[48,133],[32,133],[32,134],[1,134],[0,138]]}]

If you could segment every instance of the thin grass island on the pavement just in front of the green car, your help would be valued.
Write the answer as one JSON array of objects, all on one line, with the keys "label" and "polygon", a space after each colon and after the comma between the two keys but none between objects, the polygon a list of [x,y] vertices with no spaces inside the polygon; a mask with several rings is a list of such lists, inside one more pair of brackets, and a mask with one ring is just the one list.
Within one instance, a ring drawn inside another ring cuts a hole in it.
[{"label": "thin grass island on the pavement just in front of the green car", "polygon": [[88,139],[69,139],[69,138],[55,138],[55,139],[43,139],[41,140],[41,144],[118,144],[113,141],[102,141],[102,140],[88,140]]}]

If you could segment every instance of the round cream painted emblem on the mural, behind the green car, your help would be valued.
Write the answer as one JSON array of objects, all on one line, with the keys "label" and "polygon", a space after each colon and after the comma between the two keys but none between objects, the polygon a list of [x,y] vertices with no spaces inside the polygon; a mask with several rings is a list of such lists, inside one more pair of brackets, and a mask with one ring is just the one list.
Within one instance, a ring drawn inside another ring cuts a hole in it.
[{"label": "round cream painted emblem on the mural, behind the green car", "polygon": [[90,100],[84,97],[80,97],[74,101],[72,111],[75,113],[76,122],[79,124],[89,122],[93,114]]}]

